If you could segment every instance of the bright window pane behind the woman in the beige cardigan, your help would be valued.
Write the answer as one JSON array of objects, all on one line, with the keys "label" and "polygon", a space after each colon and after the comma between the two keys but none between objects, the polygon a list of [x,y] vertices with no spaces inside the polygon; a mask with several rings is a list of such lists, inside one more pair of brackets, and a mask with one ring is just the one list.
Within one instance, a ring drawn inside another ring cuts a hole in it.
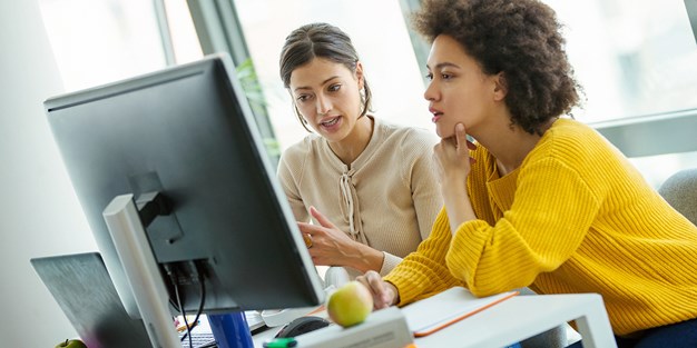
[{"label": "bright window pane behind the woman in the beige cardigan", "polygon": [[373,90],[377,117],[433,129],[397,0],[236,0],[235,4],[282,149],[307,131],[296,119],[278,76],[281,48],[292,30],[317,21],[337,26],[351,37]]}]

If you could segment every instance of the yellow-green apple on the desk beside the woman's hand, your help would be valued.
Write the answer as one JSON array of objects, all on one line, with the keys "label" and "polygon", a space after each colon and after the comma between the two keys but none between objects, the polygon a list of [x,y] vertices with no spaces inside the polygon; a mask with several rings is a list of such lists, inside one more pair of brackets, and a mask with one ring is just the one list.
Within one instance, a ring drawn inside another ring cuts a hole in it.
[{"label": "yellow-green apple on the desk beside the woman's hand", "polygon": [[350,327],[363,322],[373,310],[373,296],[365,286],[353,280],[330,295],[326,312],[332,321]]}]

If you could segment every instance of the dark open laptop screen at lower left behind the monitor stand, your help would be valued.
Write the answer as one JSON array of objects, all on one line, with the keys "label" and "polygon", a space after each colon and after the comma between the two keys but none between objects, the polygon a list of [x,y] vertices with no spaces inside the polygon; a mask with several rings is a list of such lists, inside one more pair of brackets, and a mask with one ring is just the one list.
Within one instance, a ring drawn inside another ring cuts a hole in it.
[{"label": "dark open laptop screen at lower left behind the monitor stand", "polygon": [[[88,347],[151,347],[143,320],[130,318],[124,309],[98,252],[33,258],[30,261]],[[56,339],[60,341],[63,337]],[[192,339],[205,344],[210,342],[213,336],[209,328],[195,328]],[[183,344],[188,347],[188,339]]]}]

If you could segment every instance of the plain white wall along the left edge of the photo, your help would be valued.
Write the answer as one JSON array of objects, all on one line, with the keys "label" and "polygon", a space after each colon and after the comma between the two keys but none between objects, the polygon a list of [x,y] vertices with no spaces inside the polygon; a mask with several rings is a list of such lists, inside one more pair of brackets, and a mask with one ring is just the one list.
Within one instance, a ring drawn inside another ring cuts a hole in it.
[{"label": "plain white wall along the left edge of the photo", "polygon": [[0,1],[0,337],[55,347],[76,332],[29,264],[96,250],[42,101],[62,86],[36,0]]}]

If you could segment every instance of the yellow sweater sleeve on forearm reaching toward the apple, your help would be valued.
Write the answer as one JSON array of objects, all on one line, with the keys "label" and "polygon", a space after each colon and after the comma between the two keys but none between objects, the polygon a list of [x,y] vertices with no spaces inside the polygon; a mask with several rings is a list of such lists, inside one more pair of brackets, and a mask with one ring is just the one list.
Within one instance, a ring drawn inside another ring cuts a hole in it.
[{"label": "yellow sweater sleeve on forearm reaching toward the apple", "polygon": [[463,286],[445,267],[445,252],[451,241],[449,226],[445,209],[442,209],[429,238],[384,277],[385,281],[397,288],[397,306],[428,298],[454,286]]}]

